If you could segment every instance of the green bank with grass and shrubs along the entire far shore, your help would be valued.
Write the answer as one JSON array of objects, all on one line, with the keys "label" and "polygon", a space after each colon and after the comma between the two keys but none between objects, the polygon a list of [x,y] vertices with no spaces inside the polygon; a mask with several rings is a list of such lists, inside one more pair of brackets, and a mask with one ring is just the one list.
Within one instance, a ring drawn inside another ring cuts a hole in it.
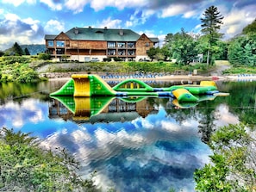
[{"label": "green bank with grass and shrubs along the entire far shore", "polygon": [[[208,74],[215,71],[220,65],[227,65],[227,61],[216,61],[216,65],[207,67],[206,64],[198,63],[193,65],[177,65],[172,62],[72,62],[60,63],[50,60],[41,60],[35,56],[8,56],[0,57],[0,82],[37,82],[40,73],[45,72],[76,72],[86,73],[120,73],[130,74],[134,72],[143,73],[164,73],[171,74],[190,74],[197,70],[197,74]],[[231,67],[224,71],[224,74],[256,74],[253,67],[238,66]]]}]

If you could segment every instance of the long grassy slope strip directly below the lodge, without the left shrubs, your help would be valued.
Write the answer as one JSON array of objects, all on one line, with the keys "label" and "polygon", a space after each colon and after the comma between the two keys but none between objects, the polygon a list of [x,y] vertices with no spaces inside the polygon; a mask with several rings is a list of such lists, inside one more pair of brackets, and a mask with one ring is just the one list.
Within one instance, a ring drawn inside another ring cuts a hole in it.
[{"label": "long grassy slope strip directly below the lodge, without the left shrubs", "polygon": [[37,70],[40,72],[70,72],[86,71],[88,73],[109,72],[109,73],[134,73],[134,72],[163,72],[173,74],[182,71],[188,74],[194,69],[198,72],[206,71],[206,65],[177,65],[171,62],[95,62],[95,63],[50,63],[41,66]]}]

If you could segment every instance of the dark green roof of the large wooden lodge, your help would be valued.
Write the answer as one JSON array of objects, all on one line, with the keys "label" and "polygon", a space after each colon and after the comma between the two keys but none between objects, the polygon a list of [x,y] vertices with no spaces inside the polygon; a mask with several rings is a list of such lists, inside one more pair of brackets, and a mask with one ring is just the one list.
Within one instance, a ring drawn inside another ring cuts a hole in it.
[{"label": "dark green roof of the large wooden lodge", "polygon": [[[117,28],[72,28],[65,33],[71,40],[137,41],[140,34],[130,29]],[[46,40],[54,40],[58,35],[46,34]],[[159,42],[158,38],[149,38]]]}]

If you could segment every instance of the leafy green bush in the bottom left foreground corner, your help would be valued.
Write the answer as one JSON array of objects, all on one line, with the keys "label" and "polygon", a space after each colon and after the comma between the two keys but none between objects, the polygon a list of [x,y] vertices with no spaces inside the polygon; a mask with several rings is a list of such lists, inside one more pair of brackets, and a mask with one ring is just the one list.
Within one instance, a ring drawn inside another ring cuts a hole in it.
[{"label": "leafy green bush in the bottom left foreground corner", "polygon": [[0,130],[1,191],[93,191],[66,150],[44,150],[29,133]]}]

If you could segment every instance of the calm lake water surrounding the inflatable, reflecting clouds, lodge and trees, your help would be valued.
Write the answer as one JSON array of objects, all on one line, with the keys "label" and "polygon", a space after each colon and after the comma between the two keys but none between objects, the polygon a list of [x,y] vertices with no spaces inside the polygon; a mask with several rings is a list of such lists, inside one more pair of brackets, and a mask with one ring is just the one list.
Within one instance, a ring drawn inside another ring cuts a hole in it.
[{"label": "calm lake water surrounding the inflatable, reflecting clouds, lodge and trees", "polygon": [[256,125],[256,82],[217,81],[229,96],[186,104],[168,97],[50,98],[64,83],[0,84],[0,127],[32,133],[47,148],[65,147],[84,177],[97,170],[103,191],[193,191],[195,169],[209,163],[210,134],[229,123]]}]

